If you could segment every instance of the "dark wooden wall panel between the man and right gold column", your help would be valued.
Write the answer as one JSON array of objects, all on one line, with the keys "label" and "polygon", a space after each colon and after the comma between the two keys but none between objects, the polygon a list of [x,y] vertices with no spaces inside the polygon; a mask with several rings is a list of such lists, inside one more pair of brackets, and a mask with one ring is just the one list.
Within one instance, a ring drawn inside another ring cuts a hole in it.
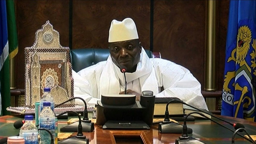
[{"label": "dark wooden wall panel between the man and right gold column", "polygon": [[204,83],[205,1],[154,1],[154,45]]}]

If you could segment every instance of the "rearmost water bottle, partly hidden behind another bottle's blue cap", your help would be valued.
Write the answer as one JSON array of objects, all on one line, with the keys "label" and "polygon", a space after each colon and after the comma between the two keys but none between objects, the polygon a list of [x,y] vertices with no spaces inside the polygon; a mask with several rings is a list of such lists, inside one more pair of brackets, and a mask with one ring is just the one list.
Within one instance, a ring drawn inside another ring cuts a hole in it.
[{"label": "rearmost water bottle, partly hidden behind another bottle's blue cap", "polygon": [[44,88],[43,95],[40,98],[40,112],[43,109],[43,102],[50,102],[51,103],[51,110],[54,111],[54,101],[53,96],[50,94],[51,88]]}]

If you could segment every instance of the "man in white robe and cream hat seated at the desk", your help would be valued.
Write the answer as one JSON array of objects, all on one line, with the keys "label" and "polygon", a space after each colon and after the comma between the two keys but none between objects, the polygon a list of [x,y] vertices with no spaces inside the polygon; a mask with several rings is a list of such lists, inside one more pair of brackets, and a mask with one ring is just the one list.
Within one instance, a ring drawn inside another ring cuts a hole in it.
[{"label": "man in white robe and cream hat seated at the desk", "polygon": [[[109,30],[110,56],[107,61],[75,73],[74,96],[94,105],[102,94],[124,94],[125,80],[120,68],[126,67],[127,94],[144,90],[156,97],[178,97],[200,109],[207,109],[201,85],[186,68],[159,58],[149,58],[139,42],[136,25],[131,18],[113,20]],[[163,91],[160,91],[161,88]]]}]

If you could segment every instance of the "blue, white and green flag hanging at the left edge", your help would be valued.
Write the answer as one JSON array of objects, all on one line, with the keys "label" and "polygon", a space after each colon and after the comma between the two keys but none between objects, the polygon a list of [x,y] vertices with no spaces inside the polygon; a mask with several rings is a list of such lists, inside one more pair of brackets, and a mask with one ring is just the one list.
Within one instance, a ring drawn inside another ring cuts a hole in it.
[{"label": "blue, white and green flag hanging at the left edge", "polygon": [[8,112],[6,108],[11,105],[9,58],[13,58],[18,53],[18,40],[13,0],[1,0],[0,15],[0,35],[2,38],[0,40],[0,110],[2,108],[1,115],[8,115],[10,112]]}]

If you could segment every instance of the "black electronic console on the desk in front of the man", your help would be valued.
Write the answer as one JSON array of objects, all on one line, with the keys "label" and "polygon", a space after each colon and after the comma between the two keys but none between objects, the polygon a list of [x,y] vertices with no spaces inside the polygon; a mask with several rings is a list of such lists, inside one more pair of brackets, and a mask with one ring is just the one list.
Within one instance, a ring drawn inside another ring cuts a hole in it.
[{"label": "black electronic console on the desk in front of the man", "polygon": [[96,124],[103,129],[150,129],[153,124],[155,96],[102,95],[98,101]]}]

